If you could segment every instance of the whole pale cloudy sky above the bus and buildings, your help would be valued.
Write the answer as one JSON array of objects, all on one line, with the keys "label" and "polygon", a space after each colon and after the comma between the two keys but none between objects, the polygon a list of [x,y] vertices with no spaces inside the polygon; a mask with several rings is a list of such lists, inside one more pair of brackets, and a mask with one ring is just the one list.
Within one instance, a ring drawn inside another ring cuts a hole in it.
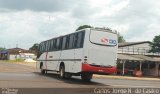
[{"label": "whole pale cloudy sky above the bus and buildings", "polygon": [[160,0],[0,0],[0,47],[29,49],[81,25],[152,41],[160,35]]}]

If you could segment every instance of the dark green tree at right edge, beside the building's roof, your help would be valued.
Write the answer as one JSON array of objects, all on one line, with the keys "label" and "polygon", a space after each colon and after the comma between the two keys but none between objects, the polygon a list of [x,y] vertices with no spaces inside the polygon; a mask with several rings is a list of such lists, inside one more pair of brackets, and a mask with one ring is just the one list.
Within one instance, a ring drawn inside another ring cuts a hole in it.
[{"label": "dark green tree at right edge, beside the building's roof", "polygon": [[160,52],[160,35],[155,36],[152,43],[150,44],[150,52]]}]

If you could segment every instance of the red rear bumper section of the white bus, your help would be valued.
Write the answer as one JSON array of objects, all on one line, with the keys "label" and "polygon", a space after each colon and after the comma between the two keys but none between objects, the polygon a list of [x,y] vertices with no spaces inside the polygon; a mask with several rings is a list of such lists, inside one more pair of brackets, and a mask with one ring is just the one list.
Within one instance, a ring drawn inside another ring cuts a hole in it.
[{"label": "red rear bumper section of the white bus", "polygon": [[115,74],[116,67],[97,67],[90,64],[82,63],[82,72],[91,72],[94,74]]}]

